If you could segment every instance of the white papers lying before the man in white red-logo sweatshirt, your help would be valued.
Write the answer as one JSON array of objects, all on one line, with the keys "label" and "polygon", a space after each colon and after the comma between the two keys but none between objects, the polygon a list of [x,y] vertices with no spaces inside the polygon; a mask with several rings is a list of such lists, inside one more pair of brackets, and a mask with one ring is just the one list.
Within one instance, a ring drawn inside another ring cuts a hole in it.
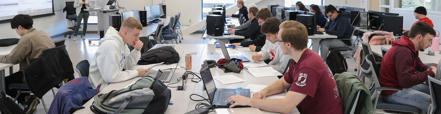
[{"label": "white papers lying before the man in white red-logo sweatshirt", "polygon": [[254,77],[269,77],[269,76],[282,76],[279,71],[274,70],[273,67],[249,67],[247,71]]}]

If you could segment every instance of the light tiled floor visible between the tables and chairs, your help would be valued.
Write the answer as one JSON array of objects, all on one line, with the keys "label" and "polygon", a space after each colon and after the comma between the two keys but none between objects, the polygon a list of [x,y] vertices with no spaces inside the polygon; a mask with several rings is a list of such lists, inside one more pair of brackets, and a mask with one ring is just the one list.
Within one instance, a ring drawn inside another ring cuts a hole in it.
[{"label": "light tiled floor visible between the tables and chairs", "polygon": [[[183,35],[184,40],[182,40],[182,43],[180,44],[211,44],[215,42],[215,40],[209,40],[205,39],[203,40],[202,34],[189,34],[189,35]],[[78,39],[76,41],[73,41],[73,37],[71,39],[66,39],[65,44],[67,45],[67,52],[69,53],[69,56],[71,57],[71,61],[73,63],[73,66],[75,68],[76,64],[82,60],[91,60],[93,55],[95,54],[95,51],[97,50],[97,46],[89,46],[88,39],[98,39],[99,36],[97,34],[87,34],[86,40],[81,40],[81,38],[78,36]],[[311,41],[308,43],[308,47],[311,45]],[[356,74],[354,71],[354,64],[355,61],[352,58],[346,59],[348,62],[348,71],[351,73]],[[19,66],[14,66],[14,71],[18,71]],[[8,70],[6,71],[6,74],[8,75]],[[75,77],[78,77],[78,74],[75,72]],[[55,92],[58,92],[58,90],[55,88]],[[54,95],[51,91],[46,93],[46,95],[43,97],[45,100],[46,106],[49,110],[49,107],[52,103],[52,99]],[[88,108],[88,107],[86,107]],[[45,114],[45,110],[43,108],[43,104],[40,103],[37,106],[37,110],[34,114]]]}]

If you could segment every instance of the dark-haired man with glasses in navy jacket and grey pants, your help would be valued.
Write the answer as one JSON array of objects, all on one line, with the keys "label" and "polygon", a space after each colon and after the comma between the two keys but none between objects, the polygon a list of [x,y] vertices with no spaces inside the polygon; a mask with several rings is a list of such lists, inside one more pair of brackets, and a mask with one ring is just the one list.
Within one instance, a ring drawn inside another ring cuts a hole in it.
[{"label": "dark-haired man with glasses in navy jacket and grey pants", "polygon": [[329,38],[320,40],[320,52],[323,60],[328,57],[330,48],[348,47],[351,41],[341,39],[351,39],[352,30],[349,22],[348,14],[345,11],[337,11],[333,5],[329,5],[325,9],[325,14],[331,19],[325,28],[317,26],[318,31],[326,32],[329,35],[335,35],[337,38]]}]

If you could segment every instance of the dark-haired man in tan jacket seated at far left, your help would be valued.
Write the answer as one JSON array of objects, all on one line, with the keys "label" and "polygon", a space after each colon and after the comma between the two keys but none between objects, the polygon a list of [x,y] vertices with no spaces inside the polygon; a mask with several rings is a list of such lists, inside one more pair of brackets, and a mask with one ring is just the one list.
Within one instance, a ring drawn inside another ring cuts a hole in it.
[{"label": "dark-haired man in tan jacket seated at far left", "polygon": [[[51,37],[41,30],[37,30],[32,25],[34,21],[30,15],[15,15],[11,20],[11,28],[21,36],[17,47],[12,49],[8,55],[0,56],[0,63],[20,63],[20,69],[26,69],[30,63],[36,60],[43,50],[55,48]],[[22,72],[16,72],[6,77],[6,88],[12,83],[24,83]],[[17,90],[6,89],[6,94],[11,97],[17,95]],[[27,114],[32,114],[40,103],[40,100],[30,94],[22,93],[16,98],[22,103]]]}]

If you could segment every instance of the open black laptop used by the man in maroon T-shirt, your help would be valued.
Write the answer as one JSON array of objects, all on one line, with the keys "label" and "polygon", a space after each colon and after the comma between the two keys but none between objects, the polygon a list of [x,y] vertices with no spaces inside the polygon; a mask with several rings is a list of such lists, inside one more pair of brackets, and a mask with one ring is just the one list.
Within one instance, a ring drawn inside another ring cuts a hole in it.
[{"label": "open black laptop used by the man in maroon T-shirt", "polygon": [[[208,99],[212,103],[213,107],[218,108],[228,108],[233,103],[227,103],[230,96],[241,95],[251,98],[250,89],[236,89],[236,88],[216,88],[214,85],[213,76],[211,75],[210,68],[208,67],[207,61],[204,61],[202,68],[200,70],[202,82],[204,82],[204,88],[207,92]],[[239,106],[237,107],[250,107],[250,106]]]}]

